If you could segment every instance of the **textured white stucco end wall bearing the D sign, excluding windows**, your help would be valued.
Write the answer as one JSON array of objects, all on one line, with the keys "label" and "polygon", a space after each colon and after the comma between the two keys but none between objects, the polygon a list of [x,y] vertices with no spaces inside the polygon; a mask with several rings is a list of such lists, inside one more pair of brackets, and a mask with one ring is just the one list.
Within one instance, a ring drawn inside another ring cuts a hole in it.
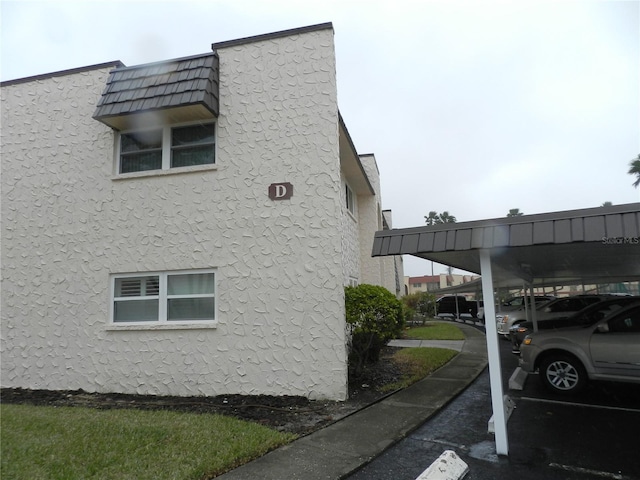
[{"label": "textured white stucco end wall bearing the D sign, excluding windows", "polygon": [[[218,53],[214,169],[114,179],[107,70],[2,88],[3,386],[345,398],[333,31]],[[110,274],[196,268],[217,328],[109,328]]]}]

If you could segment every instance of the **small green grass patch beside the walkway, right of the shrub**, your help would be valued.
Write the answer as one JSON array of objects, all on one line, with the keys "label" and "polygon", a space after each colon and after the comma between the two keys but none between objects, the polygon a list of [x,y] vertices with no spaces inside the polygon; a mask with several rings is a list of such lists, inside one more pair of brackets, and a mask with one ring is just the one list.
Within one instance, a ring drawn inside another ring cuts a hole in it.
[{"label": "small green grass patch beside the walkway, right of the shrub", "polygon": [[393,354],[394,362],[402,366],[406,373],[402,378],[392,384],[385,385],[384,392],[391,392],[422,380],[427,375],[435,372],[458,354],[448,348],[403,348]]}]

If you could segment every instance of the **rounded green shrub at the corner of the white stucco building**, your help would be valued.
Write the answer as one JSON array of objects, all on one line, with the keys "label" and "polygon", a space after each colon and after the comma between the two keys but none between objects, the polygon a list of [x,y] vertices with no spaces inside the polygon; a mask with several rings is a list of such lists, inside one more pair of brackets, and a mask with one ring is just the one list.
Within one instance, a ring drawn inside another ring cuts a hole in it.
[{"label": "rounded green shrub at the corner of the white stucco building", "polygon": [[375,363],[389,340],[402,332],[402,303],[384,287],[362,284],[345,287],[347,325],[351,334],[349,373],[359,376]]}]

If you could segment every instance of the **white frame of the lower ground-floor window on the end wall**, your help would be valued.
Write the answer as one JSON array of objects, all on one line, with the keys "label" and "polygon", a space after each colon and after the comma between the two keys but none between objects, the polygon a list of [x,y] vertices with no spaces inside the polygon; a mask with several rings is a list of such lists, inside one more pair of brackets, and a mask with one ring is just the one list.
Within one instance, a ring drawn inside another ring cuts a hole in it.
[{"label": "white frame of the lower ground-floor window on the end wall", "polygon": [[[168,295],[168,277],[174,275],[198,275],[203,273],[213,274],[213,293],[210,294],[190,294],[190,295]],[[116,297],[115,286],[117,279],[155,277],[159,278],[159,294],[144,297]],[[171,270],[160,272],[136,272],[124,274],[112,274],[109,278],[109,330],[149,330],[149,329],[185,329],[185,328],[212,328],[218,324],[218,272],[217,269],[197,269],[197,270]],[[210,297],[214,301],[213,318],[203,320],[168,320],[167,304],[168,300],[175,298],[203,298]],[[134,322],[116,322],[115,302],[135,301],[146,298],[158,300],[158,319]]]}]

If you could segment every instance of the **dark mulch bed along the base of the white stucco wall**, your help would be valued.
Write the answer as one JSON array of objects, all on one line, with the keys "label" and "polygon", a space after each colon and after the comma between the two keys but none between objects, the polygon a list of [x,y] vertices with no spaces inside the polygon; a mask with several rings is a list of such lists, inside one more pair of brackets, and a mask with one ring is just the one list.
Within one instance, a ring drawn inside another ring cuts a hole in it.
[{"label": "dark mulch bed along the base of the white stucco wall", "polygon": [[344,402],[309,400],[301,396],[219,395],[216,397],[168,397],[82,390],[51,391],[3,388],[1,403],[78,406],[96,409],[134,408],[218,413],[257,422],[284,432],[306,435],[385,397],[381,389],[400,379],[403,366],[392,361],[397,349],[385,347],[380,361],[350,381]]}]

